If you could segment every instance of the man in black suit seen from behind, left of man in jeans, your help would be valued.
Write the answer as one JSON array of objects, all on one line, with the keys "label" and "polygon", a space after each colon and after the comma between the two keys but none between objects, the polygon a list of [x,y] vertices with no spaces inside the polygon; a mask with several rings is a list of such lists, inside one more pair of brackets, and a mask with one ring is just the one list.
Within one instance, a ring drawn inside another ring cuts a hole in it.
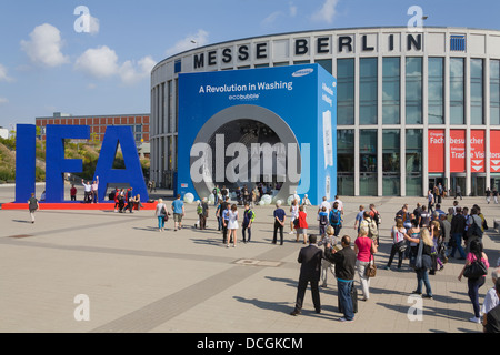
[{"label": "man in black suit seen from behind, left of man in jeans", "polygon": [[311,284],[312,303],[316,313],[321,313],[321,301],[319,293],[319,280],[321,272],[321,260],[323,258],[323,251],[317,245],[316,234],[309,236],[309,245],[304,246],[299,252],[297,261],[301,264],[299,284],[297,286],[296,307],[290,313],[293,316],[302,312],[303,297],[308,284]]}]

